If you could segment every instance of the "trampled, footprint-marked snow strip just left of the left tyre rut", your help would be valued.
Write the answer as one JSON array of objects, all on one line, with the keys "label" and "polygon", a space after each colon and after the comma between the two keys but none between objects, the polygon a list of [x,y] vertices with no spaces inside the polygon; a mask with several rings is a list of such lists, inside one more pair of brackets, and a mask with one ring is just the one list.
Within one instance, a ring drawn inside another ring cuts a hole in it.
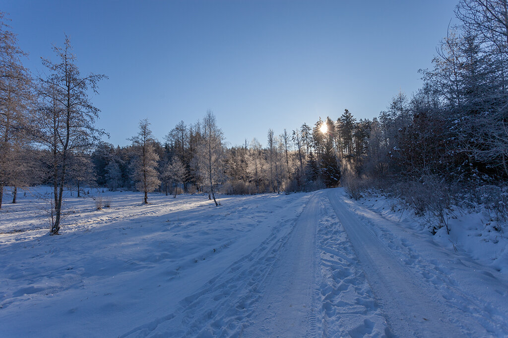
[{"label": "trampled, footprint-marked snow strip just left of the left tyre rut", "polygon": [[[308,202],[309,203],[309,202]],[[131,336],[242,336],[256,315],[267,279],[285,250],[297,219],[274,227],[249,254],[209,280],[198,292],[185,297],[173,313],[140,325],[120,337]]]}]

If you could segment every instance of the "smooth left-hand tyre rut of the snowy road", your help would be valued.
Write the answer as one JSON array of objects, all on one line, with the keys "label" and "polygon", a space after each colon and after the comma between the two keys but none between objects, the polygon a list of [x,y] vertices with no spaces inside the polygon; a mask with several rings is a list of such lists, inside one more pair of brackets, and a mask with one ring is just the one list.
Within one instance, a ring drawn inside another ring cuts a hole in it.
[{"label": "smooth left-hand tyre rut of the snowy road", "polygon": [[252,324],[242,336],[292,336],[316,334],[316,226],[319,198],[313,197],[295,223],[288,242],[265,282]]}]

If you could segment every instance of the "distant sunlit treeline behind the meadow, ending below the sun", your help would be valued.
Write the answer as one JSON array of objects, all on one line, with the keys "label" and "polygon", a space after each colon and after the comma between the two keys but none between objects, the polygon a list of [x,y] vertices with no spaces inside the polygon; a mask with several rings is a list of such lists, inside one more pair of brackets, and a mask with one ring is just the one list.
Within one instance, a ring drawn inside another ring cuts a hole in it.
[{"label": "distant sunlit treeline behind the meadow, ending below the sun", "polygon": [[[220,135],[212,142],[207,138],[210,119],[215,134]],[[140,128],[145,125],[149,125],[146,120]],[[326,131],[320,130],[323,126],[327,126]],[[203,121],[195,124],[181,121],[162,142],[150,138],[149,153],[154,162],[148,176],[157,181],[153,190],[174,196],[214,189],[224,194],[260,194],[337,186],[341,174],[335,134],[331,120],[328,124],[320,120],[313,128],[303,124],[301,129],[291,133],[284,130],[280,135],[270,129],[265,147],[256,138],[245,140],[241,146],[227,147],[209,111]],[[96,182],[111,190],[140,189],[135,175],[137,147],[134,143],[124,147],[100,143],[90,156],[95,175],[89,177],[88,183]],[[206,163],[209,154],[211,165]]]}]

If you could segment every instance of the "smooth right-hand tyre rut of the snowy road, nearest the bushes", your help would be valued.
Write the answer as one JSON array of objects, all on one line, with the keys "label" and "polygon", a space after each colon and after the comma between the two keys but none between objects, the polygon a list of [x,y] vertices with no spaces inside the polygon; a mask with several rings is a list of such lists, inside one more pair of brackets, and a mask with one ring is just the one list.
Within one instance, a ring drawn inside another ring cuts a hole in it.
[{"label": "smooth right-hand tyre rut of the snowy road, nearest the bushes", "polygon": [[[395,335],[451,337],[466,336],[472,332],[475,336],[496,333],[489,332],[475,319],[481,316],[489,321],[490,313],[478,308],[472,316],[448,302],[429,280],[410,269],[408,263],[411,261],[403,256],[403,252],[390,248],[389,243],[381,240],[371,227],[348,210],[336,191],[329,191],[328,195]],[[429,276],[435,273],[423,272]],[[506,329],[502,322],[498,324]]]}]

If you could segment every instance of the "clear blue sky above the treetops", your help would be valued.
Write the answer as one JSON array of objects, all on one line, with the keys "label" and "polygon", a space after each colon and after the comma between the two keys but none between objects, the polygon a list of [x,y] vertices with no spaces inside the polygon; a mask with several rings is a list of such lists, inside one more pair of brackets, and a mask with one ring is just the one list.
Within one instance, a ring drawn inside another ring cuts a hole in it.
[{"label": "clear blue sky above the treetops", "polygon": [[230,145],[344,108],[369,118],[420,88],[458,0],[0,1],[26,65],[68,34],[83,73],[104,73],[98,126],[126,145],[148,118],[164,136],[213,110]]}]

